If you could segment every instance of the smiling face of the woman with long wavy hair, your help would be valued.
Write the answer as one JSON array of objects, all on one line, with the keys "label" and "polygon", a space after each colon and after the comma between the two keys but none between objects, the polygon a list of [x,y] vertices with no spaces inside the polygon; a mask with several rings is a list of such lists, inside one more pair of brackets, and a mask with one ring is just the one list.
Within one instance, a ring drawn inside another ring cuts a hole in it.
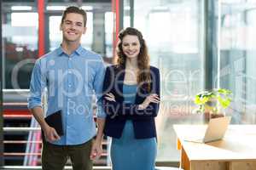
[{"label": "smiling face of the woman with long wavy hair", "polygon": [[122,49],[127,59],[137,58],[141,44],[137,36],[127,35],[122,40]]}]

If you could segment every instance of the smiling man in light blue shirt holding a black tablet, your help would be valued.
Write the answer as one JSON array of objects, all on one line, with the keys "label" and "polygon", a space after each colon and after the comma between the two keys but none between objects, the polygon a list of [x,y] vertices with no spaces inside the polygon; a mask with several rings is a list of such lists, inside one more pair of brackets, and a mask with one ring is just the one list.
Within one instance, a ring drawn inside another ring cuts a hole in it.
[{"label": "smiling man in light blue shirt holding a black tablet", "polygon": [[[32,71],[28,108],[44,131],[44,170],[61,170],[70,157],[74,170],[91,170],[92,160],[102,154],[102,82],[105,67],[100,55],[80,45],[86,31],[86,13],[68,7],[61,19],[62,42],[38,59]],[[61,111],[64,135],[44,120],[41,97],[47,89],[46,116]],[[97,99],[97,127],[93,119],[92,96]],[[93,137],[96,139],[93,141]]]}]

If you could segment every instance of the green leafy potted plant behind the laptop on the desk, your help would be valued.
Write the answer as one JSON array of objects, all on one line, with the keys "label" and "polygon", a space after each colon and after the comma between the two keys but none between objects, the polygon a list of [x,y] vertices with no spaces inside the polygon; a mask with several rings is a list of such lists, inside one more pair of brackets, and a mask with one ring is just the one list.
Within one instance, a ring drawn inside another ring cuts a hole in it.
[{"label": "green leafy potted plant behind the laptop on the desk", "polygon": [[195,104],[199,105],[196,112],[205,113],[206,119],[224,116],[232,100],[232,92],[225,88],[214,88],[195,95]]}]

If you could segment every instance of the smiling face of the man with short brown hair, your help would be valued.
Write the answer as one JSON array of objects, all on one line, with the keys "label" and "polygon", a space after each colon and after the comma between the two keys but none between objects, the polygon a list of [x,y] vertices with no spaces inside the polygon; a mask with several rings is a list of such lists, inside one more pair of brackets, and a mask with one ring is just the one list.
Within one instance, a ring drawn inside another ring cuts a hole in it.
[{"label": "smiling face of the man with short brown hair", "polygon": [[63,41],[80,42],[82,35],[86,31],[82,14],[69,13],[61,23]]}]

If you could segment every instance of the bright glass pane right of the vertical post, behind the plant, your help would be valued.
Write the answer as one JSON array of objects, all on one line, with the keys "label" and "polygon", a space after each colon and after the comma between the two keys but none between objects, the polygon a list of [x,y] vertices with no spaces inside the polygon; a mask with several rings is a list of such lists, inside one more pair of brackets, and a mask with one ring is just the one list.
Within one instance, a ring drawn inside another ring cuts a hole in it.
[{"label": "bright glass pane right of the vertical post, behind the plant", "polygon": [[256,123],[256,2],[224,0],[219,5],[219,78],[215,82],[234,94],[229,110],[232,122]]}]

